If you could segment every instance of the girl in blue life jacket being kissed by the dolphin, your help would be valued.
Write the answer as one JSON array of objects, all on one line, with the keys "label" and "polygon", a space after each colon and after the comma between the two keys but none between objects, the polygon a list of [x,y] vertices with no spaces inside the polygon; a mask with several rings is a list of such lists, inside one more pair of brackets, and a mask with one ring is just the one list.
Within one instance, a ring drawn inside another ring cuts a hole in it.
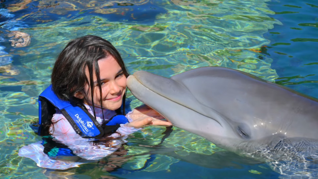
[{"label": "girl in blue life jacket being kissed by the dolphin", "polygon": [[[146,125],[171,125],[145,105],[124,114],[127,76],[119,52],[107,40],[87,35],[69,42],[54,64],[52,85],[39,97],[38,133],[71,151],[54,152],[40,141],[22,147],[19,156],[43,168],[67,169],[113,153],[123,142],[115,137]],[[96,145],[96,138],[108,142]]]}]

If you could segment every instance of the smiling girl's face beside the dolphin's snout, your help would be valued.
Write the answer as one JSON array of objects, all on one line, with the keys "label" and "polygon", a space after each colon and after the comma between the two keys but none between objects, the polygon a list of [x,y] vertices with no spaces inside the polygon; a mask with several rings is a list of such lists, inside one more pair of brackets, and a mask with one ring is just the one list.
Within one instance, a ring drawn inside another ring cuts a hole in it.
[{"label": "smiling girl's face beside the dolphin's snout", "polygon": [[[94,92],[93,99],[96,107],[100,106],[100,98],[104,109],[116,110],[121,107],[122,98],[126,90],[126,76],[117,61],[113,56],[109,55],[106,58],[98,60],[98,66],[100,69],[100,82],[102,89],[102,96],[100,97],[100,90],[97,85],[97,77],[95,72],[93,73]],[[89,79],[88,69],[85,69],[86,77]],[[89,84],[85,85],[85,94],[76,95],[75,97],[84,99],[84,104],[92,105],[92,96]]]}]

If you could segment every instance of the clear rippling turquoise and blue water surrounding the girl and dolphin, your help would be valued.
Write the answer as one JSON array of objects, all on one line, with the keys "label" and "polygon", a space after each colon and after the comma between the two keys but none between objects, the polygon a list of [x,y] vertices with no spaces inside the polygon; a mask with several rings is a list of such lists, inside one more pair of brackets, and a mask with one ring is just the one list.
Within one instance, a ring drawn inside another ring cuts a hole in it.
[{"label": "clear rippling turquoise and blue water surrounding the girl and dolphin", "polygon": [[[318,97],[316,1],[16,0],[1,5],[27,24],[21,31],[31,35],[29,46],[15,48],[9,32],[0,29],[1,46],[13,60],[10,69],[0,67],[1,178],[280,177],[266,164],[175,127],[160,147],[147,146],[158,144],[165,128],[147,127],[129,136],[121,154],[65,171],[19,157],[19,148],[41,140],[29,123],[37,118],[37,96],[50,84],[55,58],[70,39],[82,35],[111,41],[130,73],[169,77],[223,66]],[[141,104],[128,96],[132,108]]]}]

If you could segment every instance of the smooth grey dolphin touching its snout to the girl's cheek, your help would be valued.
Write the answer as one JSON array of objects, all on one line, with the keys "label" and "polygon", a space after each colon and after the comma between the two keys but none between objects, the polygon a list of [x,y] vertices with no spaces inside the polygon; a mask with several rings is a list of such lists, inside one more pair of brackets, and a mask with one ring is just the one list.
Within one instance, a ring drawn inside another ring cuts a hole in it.
[{"label": "smooth grey dolphin touching its snout to the girl's cheek", "polygon": [[196,68],[171,78],[137,71],[127,86],[176,127],[267,162],[282,175],[318,177],[315,98],[224,67]]}]

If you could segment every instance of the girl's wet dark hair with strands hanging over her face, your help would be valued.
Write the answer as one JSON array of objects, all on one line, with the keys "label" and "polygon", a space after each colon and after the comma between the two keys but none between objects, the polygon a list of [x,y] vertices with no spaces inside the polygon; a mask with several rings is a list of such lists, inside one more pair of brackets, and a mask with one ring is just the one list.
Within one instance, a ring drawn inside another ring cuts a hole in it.
[{"label": "girl's wet dark hair with strands hanging over her face", "polygon": [[[94,81],[93,73],[97,76],[97,86],[100,89],[100,97],[102,96],[100,69],[97,61],[103,58],[113,56],[121,67],[123,74],[128,77],[128,71],[124,61],[116,48],[107,40],[93,35],[86,35],[71,40],[63,51],[57,57],[51,75],[52,90],[62,100],[71,103],[83,103],[83,100],[74,97],[78,92],[84,92],[84,87],[89,84],[91,89],[92,104],[94,118],[96,118],[94,106]],[[85,68],[88,69],[89,79],[86,77]],[[89,94],[85,94],[85,97]],[[123,97],[125,104],[126,95]],[[99,99],[101,109],[102,99]],[[124,110],[124,109],[123,109]],[[117,114],[121,113],[121,109],[115,110]],[[52,117],[51,117],[52,118]],[[104,114],[103,114],[104,119]],[[52,124],[52,122],[51,122]],[[51,124],[48,124],[47,127]]]}]

